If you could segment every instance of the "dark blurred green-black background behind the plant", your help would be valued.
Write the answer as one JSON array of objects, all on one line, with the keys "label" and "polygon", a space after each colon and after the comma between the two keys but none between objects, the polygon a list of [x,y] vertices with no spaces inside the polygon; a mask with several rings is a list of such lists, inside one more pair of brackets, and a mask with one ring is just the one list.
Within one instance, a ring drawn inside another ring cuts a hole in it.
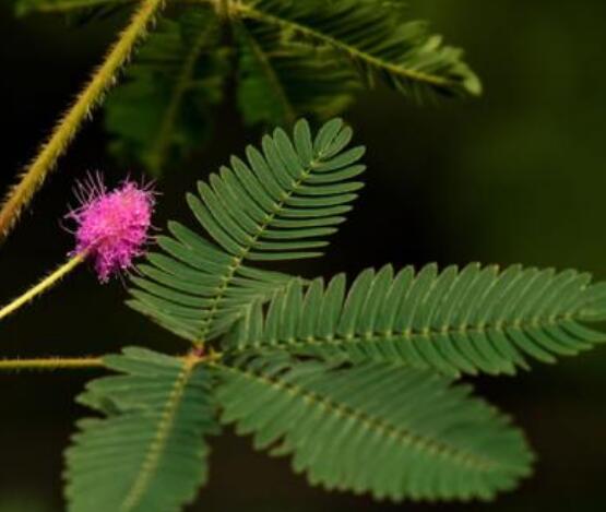
[{"label": "dark blurred green-black background behind the plant", "polygon": [[[120,16],[85,26],[14,20],[0,7],[0,184],[14,180],[97,63]],[[606,3],[413,0],[482,75],[479,99],[418,108],[389,91],[360,97],[347,120],[368,147],[367,189],[321,261],[306,275],[394,262],[575,266],[606,277]],[[213,143],[158,183],[157,225],[188,221],[195,179],[258,134],[228,107]],[[9,242],[0,248],[0,302],[59,264],[72,240],[60,227],[73,180],[103,169],[103,122],[87,123]],[[136,169],[130,169],[136,175]],[[103,354],[126,344],[168,352],[182,342],[122,306],[124,286],[81,270],[2,323],[2,356]],[[84,413],[73,404],[91,372],[0,376],[0,512],[55,512],[61,453]],[[478,393],[511,413],[539,454],[536,476],[494,504],[392,505],[325,493],[288,461],[216,439],[210,485],[190,512],[606,510],[606,348],[519,378],[480,379]],[[112,512],[112,511],[108,511]]]}]

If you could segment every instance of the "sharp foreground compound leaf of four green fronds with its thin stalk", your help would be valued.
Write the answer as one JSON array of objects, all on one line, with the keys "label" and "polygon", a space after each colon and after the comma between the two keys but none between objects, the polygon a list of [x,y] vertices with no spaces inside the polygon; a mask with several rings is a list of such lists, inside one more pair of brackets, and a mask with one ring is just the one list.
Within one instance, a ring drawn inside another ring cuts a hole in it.
[{"label": "sharp foreground compound leaf of four green fronds with its thin stalk", "polygon": [[300,120],[188,194],[197,225],[168,224],[128,302],[188,342],[181,356],[0,361],[115,373],[78,398],[92,416],[66,452],[68,510],[182,510],[224,425],[312,485],[376,499],[489,500],[531,474],[521,430],[459,380],[605,342],[606,283],[520,265],[384,265],[350,283],[259,266],[321,255],[363,187],[352,135],[340,119],[316,134]]}]

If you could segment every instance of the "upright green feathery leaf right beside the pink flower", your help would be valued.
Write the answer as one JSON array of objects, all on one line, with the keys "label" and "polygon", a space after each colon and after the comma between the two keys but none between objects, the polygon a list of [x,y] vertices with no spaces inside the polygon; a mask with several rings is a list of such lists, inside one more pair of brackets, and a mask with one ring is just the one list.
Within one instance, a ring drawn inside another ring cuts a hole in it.
[{"label": "upright green feathery leaf right beside the pink flower", "polygon": [[215,243],[173,223],[174,238],[159,237],[165,253],[148,255],[133,278],[129,305],[179,336],[194,342],[225,332],[243,310],[283,288],[289,276],[254,270],[249,260],[276,261],[320,255],[361,187],[364,147],[346,148],[352,130],[340,119],[312,138],[299,121],[289,138],[265,135],[262,152],[231,158],[188,203]]}]

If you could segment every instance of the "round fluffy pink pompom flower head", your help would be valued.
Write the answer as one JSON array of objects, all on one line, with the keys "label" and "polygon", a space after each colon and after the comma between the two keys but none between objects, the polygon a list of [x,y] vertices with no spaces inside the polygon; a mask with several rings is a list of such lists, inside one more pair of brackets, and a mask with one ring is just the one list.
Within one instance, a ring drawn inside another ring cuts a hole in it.
[{"label": "round fluffy pink pompom flower head", "polygon": [[155,193],[150,184],[127,179],[108,191],[100,174],[79,182],[74,194],[80,206],[67,218],[76,223],[75,249],[94,261],[102,283],[132,266],[150,240]]}]

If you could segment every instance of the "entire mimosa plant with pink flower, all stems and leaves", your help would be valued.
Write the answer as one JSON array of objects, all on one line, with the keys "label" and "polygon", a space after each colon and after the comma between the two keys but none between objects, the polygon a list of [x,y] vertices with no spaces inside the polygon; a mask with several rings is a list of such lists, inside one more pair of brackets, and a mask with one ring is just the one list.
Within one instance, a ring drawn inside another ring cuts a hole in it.
[{"label": "entire mimosa plant with pink flower, all stems and leaves", "polygon": [[14,3],[71,23],[128,21],[7,195],[0,239],[102,105],[111,154],[156,177],[200,151],[223,102],[249,127],[283,127],[198,183],[191,227],[171,222],[155,236],[147,186],[78,186],[68,261],[0,309],[1,320],[91,262],[104,283],[126,275],[128,305],[187,344],[0,360],[0,371],[111,373],[78,397],[90,416],[66,452],[69,511],[182,510],[209,478],[224,426],[289,456],[311,485],[378,500],[491,500],[530,476],[523,432],[461,381],[604,343],[605,283],[476,263],[326,281],[271,269],[321,255],[363,188],[352,129],[338,118],[310,127],[377,84],[423,103],[478,95],[461,50],[400,0]]}]

